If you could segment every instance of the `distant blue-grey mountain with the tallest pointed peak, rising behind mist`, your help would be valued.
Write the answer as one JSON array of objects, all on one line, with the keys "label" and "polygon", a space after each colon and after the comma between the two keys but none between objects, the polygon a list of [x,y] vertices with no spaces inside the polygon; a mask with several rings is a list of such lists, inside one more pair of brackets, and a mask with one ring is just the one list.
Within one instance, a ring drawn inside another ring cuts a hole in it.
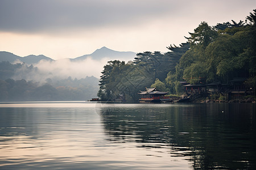
[{"label": "distant blue-grey mountain with the tallest pointed peak, rising behind mist", "polygon": [[71,59],[71,61],[80,61],[87,57],[92,57],[92,59],[95,59],[95,60],[100,60],[102,58],[109,58],[112,60],[119,59],[119,60],[129,61],[129,60],[133,60],[134,57],[136,57],[136,54],[137,53],[134,53],[134,52],[118,52],[118,51],[106,48],[104,46],[100,49],[97,49],[92,54],[86,54],[81,57],[73,58],[73,59]]}]

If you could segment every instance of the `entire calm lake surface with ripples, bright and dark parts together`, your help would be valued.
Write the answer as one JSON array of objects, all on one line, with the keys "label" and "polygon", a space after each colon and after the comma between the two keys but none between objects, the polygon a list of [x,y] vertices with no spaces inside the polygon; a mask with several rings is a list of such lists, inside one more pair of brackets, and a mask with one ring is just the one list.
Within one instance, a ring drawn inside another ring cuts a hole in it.
[{"label": "entire calm lake surface with ripples, bright and dark parts together", "polygon": [[0,169],[256,169],[255,104],[0,103]]}]

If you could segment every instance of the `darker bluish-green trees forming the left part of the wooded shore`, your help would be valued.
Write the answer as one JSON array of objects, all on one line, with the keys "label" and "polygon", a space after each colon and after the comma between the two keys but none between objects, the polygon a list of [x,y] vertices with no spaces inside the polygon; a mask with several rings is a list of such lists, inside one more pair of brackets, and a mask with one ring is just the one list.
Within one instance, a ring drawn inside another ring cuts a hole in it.
[{"label": "darker bluish-green trees forming the left part of the wooded shore", "polygon": [[[138,53],[134,61],[128,63],[109,61],[100,80],[98,96],[102,100],[114,100],[125,96],[127,101],[137,101],[139,90],[151,87],[158,78],[164,81],[169,71],[175,71],[180,57],[189,49],[189,43],[170,46],[171,52]],[[156,82],[156,83],[159,83]]]}]

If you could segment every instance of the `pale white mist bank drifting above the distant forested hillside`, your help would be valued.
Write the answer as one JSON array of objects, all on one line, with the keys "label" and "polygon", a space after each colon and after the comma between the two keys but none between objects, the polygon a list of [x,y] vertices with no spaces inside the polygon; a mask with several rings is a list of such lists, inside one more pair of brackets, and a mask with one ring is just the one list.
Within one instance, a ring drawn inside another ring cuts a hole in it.
[{"label": "pale white mist bank drifting above the distant forested hillside", "polygon": [[86,76],[100,78],[101,71],[109,60],[110,58],[94,60],[91,57],[80,61],[71,61],[69,58],[56,61],[41,60],[34,65],[23,65],[20,69],[17,69],[13,79],[26,79],[45,83],[47,79],[59,80],[66,79],[69,76],[77,79],[85,78]]}]

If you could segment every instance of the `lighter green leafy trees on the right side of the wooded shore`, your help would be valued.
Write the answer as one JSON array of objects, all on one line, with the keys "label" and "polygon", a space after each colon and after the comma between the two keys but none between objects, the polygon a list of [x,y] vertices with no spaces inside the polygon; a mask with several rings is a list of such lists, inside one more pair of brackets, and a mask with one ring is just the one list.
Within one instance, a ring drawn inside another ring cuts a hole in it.
[{"label": "lighter green leafy trees on the right side of the wooded shore", "polygon": [[181,92],[181,80],[197,83],[222,82],[237,77],[248,78],[248,86],[255,89],[256,74],[256,26],[255,15],[250,13],[250,23],[240,21],[210,27],[202,22],[188,42],[191,48],[181,57],[176,71],[167,75],[166,83],[174,92]]}]

